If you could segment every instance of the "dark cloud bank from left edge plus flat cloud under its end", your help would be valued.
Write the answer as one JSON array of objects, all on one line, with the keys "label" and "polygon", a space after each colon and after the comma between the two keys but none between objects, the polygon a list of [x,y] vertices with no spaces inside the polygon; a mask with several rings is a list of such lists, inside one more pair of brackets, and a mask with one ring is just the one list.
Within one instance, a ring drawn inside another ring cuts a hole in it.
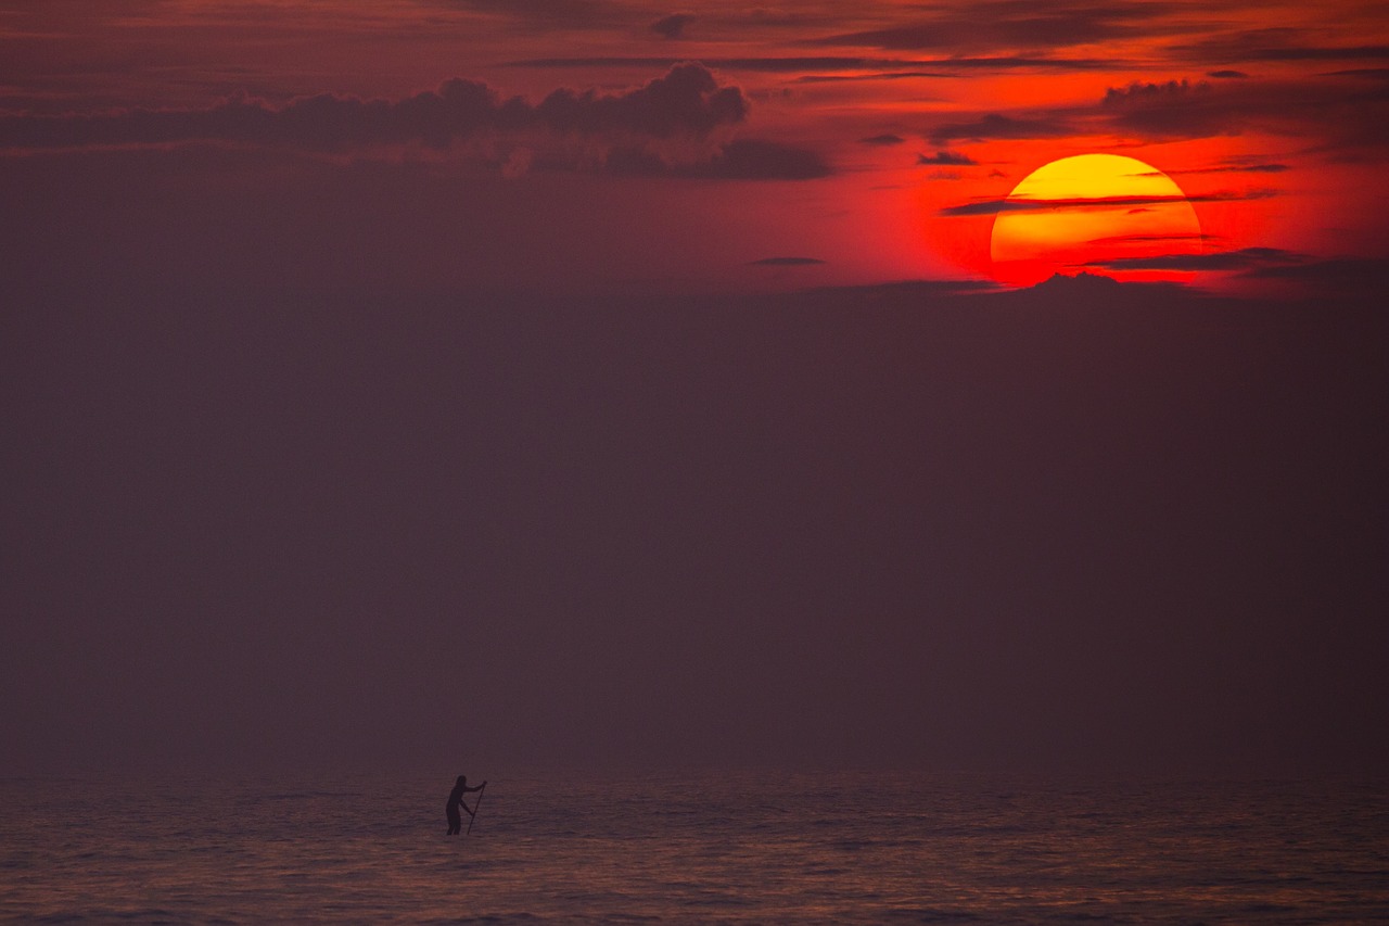
[{"label": "dark cloud bank from left edge plus flat cloud under its end", "polygon": [[486,140],[493,145],[492,160],[508,177],[532,165],[710,179],[814,179],[832,172],[806,149],[725,140],[747,115],[740,88],[721,85],[701,64],[682,63],[622,93],[558,89],[539,103],[454,78],[400,100],[322,93],[276,107],[242,95],[203,108],[17,114],[0,117],[0,150],[222,143],[365,154],[411,147],[444,152]]}]

